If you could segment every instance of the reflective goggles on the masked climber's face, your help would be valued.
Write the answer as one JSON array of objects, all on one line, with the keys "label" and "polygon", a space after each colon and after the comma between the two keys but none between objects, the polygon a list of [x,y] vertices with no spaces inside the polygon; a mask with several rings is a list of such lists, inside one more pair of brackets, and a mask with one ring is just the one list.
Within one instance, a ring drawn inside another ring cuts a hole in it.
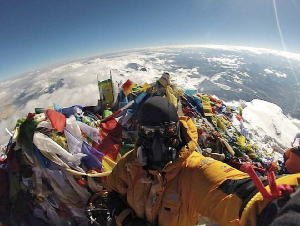
[{"label": "reflective goggles on the masked climber's face", "polygon": [[143,137],[154,137],[158,132],[162,137],[171,137],[178,134],[179,122],[165,123],[158,126],[138,125],[138,133]]}]

